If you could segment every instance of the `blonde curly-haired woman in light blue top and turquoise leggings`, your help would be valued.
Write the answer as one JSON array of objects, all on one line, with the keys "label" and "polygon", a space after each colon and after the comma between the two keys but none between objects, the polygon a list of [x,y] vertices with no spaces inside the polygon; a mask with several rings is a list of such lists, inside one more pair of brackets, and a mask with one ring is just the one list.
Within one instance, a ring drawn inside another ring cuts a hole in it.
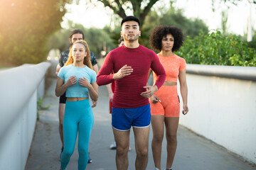
[{"label": "blonde curly-haired woman in light blue top and turquoise leggings", "polygon": [[66,169],[75,149],[77,135],[79,135],[78,169],[84,170],[88,162],[88,146],[94,122],[88,97],[97,101],[97,75],[92,70],[87,42],[84,40],[75,42],[71,49],[68,61],[58,73],[55,88],[56,96],[61,96],[66,92],[67,97],[63,119],[64,149],[60,161],[61,169]]}]

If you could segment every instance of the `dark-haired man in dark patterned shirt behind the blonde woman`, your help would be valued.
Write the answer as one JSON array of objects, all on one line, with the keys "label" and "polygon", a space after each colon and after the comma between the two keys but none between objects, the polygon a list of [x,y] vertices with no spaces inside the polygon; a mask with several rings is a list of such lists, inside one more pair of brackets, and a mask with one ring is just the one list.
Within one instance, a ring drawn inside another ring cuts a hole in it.
[{"label": "dark-haired man in dark patterned shirt behind the blonde woman", "polygon": [[[82,30],[75,29],[75,30],[72,30],[70,32],[70,38],[69,38],[70,45],[73,45],[73,43],[75,43],[78,40],[84,40],[84,39],[85,39],[85,36],[82,33]],[[56,72],[55,72],[56,76],[58,75],[58,72],[60,71],[60,68],[63,67],[65,62],[68,61],[69,51],[70,50],[66,50],[65,52],[60,53],[59,64],[57,65]],[[93,70],[97,74],[99,72],[99,69],[97,67],[97,60],[96,60],[96,57],[95,57],[93,52],[90,52],[90,60],[92,62]],[[63,96],[60,96],[60,104],[59,104],[59,109],[58,109],[58,111],[59,111],[59,120],[60,120],[59,132],[60,132],[60,140],[61,140],[62,144],[63,144],[63,118],[64,118],[64,113],[65,113],[65,101],[66,101],[66,99],[67,98],[65,97],[65,94],[63,94]],[[97,101],[92,101],[92,103],[93,103],[92,108],[94,108],[97,105]],[[63,152],[63,147],[61,148],[61,152]],[[91,163],[91,162],[92,162],[92,159],[90,159],[90,157],[89,157],[88,163]]]}]

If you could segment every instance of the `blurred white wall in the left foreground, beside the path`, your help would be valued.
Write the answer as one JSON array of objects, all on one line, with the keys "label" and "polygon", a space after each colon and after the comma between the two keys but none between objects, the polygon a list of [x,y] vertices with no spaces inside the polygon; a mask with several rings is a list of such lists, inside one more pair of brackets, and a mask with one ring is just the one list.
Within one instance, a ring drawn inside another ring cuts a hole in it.
[{"label": "blurred white wall in the left foreground, beside the path", "polygon": [[0,71],[0,169],[24,169],[49,62]]}]

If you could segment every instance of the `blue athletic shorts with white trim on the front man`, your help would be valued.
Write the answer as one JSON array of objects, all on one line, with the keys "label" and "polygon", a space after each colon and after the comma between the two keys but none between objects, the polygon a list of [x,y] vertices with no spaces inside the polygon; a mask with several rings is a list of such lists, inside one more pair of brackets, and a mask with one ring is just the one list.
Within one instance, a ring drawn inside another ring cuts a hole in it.
[{"label": "blue athletic shorts with white trim on the front man", "polygon": [[150,105],[138,108],[112,108],[112,126],[116,130],[126,131],[131,127],[146,128],[150,125]]}]

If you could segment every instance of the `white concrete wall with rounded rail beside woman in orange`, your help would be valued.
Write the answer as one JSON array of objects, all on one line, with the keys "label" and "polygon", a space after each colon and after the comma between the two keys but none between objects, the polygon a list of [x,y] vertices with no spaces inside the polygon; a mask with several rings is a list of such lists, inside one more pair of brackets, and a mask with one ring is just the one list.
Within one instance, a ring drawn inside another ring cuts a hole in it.
[{"label": "white concrete wall with rounded rail beside woman in orange", "polygon": [[256,67],[188,64],[186,78],[181,125],[256,163]]}]

